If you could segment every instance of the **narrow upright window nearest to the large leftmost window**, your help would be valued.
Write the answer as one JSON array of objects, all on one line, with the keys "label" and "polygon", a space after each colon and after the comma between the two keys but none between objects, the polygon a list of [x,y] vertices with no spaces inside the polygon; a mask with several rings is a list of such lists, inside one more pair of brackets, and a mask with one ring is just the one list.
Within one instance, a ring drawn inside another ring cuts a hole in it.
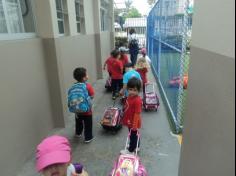
[{"label": "narrow upright window nearest to the large leftmost window", "polygon": [[65,23],[68,21],[66,0],[56,0],[57,23],[59,34],[66,33]]}]

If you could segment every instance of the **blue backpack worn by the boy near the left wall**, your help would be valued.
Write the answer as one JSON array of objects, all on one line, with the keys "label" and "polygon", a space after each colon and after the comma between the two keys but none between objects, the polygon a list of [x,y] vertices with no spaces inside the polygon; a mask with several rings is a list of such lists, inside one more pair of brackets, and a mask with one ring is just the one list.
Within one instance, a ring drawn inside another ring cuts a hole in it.
[{"label": "blue backpack worn by the boy near the left wall", "polygon": [[92,107],[85,83],[76,83],[68,91],[68,108],[72,113],[88,112]]}]

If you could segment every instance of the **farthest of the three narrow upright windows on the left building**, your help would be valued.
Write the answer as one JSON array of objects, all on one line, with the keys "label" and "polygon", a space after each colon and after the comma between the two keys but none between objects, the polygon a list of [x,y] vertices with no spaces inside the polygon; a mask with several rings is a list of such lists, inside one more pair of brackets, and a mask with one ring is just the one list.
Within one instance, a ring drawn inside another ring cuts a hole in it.
[{"label": "farthest of the three narrow upright windows on the left building", "polygon": [[110,2],[109,0],[101,0],[100,7],[100,19],[101,19],[101,31],[108,31],[109,25],[111,24],[110,13]]}]

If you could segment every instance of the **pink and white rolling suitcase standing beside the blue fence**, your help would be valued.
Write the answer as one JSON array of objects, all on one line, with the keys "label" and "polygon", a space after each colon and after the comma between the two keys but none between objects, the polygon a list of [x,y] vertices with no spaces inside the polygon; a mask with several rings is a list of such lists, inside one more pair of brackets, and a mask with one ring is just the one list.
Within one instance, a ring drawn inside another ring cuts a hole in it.
[{"label": "pink and white rolling suitcase standing beside the blue fence", "polygon": [[146,111],[156,110],[160,105],[159,98],[155,92],[155,87],[153,83],[145,84],[145,91],[143,94],[143,107]]}]

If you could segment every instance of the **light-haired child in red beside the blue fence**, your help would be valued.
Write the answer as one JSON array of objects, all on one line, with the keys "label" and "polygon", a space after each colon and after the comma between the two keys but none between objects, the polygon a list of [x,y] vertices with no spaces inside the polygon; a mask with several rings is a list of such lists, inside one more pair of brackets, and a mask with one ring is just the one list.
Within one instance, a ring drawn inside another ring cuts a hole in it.
[{"label": "light-haired child in red beside the blue fence", "polygon": [[136,64],[136,71],[140,74],[143,82],[143,92],[145,91],[145,84],[148,82],[147,73],[148,73],[149,65],[145,59],[145,57],[141,57],[138,59]]}]

